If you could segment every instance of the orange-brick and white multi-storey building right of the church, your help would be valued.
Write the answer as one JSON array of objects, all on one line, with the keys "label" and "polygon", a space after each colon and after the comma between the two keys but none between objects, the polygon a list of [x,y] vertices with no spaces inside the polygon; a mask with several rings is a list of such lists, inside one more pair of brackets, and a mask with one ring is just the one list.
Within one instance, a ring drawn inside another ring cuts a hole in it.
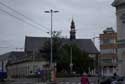
[{"label": "orange-brick and white multi-storey building right of the church", "polygon": [[107,28],[100,34],[100,66],[103,76],[112,76],[117,67],[117,33]]}]

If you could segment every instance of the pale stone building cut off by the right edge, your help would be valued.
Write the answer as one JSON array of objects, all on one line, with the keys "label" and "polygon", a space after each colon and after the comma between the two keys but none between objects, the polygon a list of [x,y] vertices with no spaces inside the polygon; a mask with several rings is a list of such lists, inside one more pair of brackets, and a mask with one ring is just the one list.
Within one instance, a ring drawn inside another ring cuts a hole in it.
[{"label": "pale stone building cut off by the right edge", "polygon": [[116,8],[117,17],[117,72],[119,75],[125,75],[125,0],[114,0],[112,6]]}]

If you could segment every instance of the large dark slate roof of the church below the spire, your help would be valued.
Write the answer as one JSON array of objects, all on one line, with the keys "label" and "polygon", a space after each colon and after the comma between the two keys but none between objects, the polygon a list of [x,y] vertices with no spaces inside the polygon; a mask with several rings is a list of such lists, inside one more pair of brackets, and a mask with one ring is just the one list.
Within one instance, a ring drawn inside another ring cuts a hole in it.
[{"label": "large dark slate roof of the church below the spire", "polygon": [[[25,38],[25,51],[33,51],[33,50],[39,50],[43,47],[44,43],[50,40],[49,37],[26,37]],[[70,43],[70,39],[64,39],[62,38],[62,43]],[[97,54],[99,53],[97,48],[95,47],[94,43],[91,39],[75,39],[73,41],[76,43],[83,51],[91,54]]]}]

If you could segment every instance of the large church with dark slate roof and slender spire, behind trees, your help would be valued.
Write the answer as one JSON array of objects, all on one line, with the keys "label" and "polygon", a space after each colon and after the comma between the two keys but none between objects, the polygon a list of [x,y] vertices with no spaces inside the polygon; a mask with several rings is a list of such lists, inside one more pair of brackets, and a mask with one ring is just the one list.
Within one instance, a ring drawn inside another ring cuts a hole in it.
[{"label": "large church with dark slate roof and slender spire, behind trees", "polygon": [[[65,44],[76,44],[82,51],[85,51],[89,54],[90,57],[93,57],[94,60],[97,62],[97,56],[99,54],[97,48],[95,47],[94,43],[91,39],[77,39],[76,38],[76,31],[75,31],[75,22],[74,20],[71,21],[70,25],[70,38],[59,38],[61,41],[61,46]],[[46,37],[26,37],[25,39],[25,53],[27,56],[30,56],[34,53],[39,52],[44,44],[50,41],[50,38]],[[71,49],[72,50],[72,49]],[[43,50],[44,51],[44,50]],[[70,51],[71,52],[71,51]],[[70,59],[71,60],[71,59]],[[95,62],[94,61],[94,62]],[[73,63],[70,63],[72,66]],[[96,65],[97,63],[95,63]],[[95,70],[93,70],[92,74],[95,74]]]}]

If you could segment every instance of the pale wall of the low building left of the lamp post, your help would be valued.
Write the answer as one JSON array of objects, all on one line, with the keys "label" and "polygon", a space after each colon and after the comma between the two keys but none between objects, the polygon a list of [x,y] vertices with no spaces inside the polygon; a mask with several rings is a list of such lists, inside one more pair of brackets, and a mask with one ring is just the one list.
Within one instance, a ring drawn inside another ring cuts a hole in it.
[{"label": "pale wall of the low building left of the lamp post", "polygon": [[[39,70],[45,71],[47,62],[27,61],[19,64],[13,64],[7,67],[8,75],[11,77],[29,77],[38,74]],[[14,72],[14,73],[13,73]]]}]

